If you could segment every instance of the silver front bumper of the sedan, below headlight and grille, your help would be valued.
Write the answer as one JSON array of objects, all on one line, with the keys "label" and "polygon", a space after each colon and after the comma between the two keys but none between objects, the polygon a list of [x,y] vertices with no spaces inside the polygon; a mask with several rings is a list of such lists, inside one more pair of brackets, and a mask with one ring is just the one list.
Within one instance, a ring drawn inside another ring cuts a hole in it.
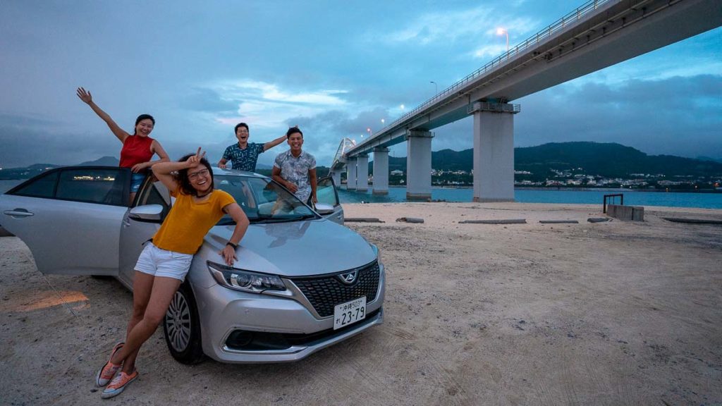
[{"label": "silver front bumper of the sedan, below headlight and grille", "polygon": [[[307,357],[383,323],[386,276],[380,264],[378,292],[367,317],[334,330],[300,292],[258,295],[220,285],[195,290],[206,355],[225,363],[281,363]],[[300,295],[300,297],[299,297]]]}]

